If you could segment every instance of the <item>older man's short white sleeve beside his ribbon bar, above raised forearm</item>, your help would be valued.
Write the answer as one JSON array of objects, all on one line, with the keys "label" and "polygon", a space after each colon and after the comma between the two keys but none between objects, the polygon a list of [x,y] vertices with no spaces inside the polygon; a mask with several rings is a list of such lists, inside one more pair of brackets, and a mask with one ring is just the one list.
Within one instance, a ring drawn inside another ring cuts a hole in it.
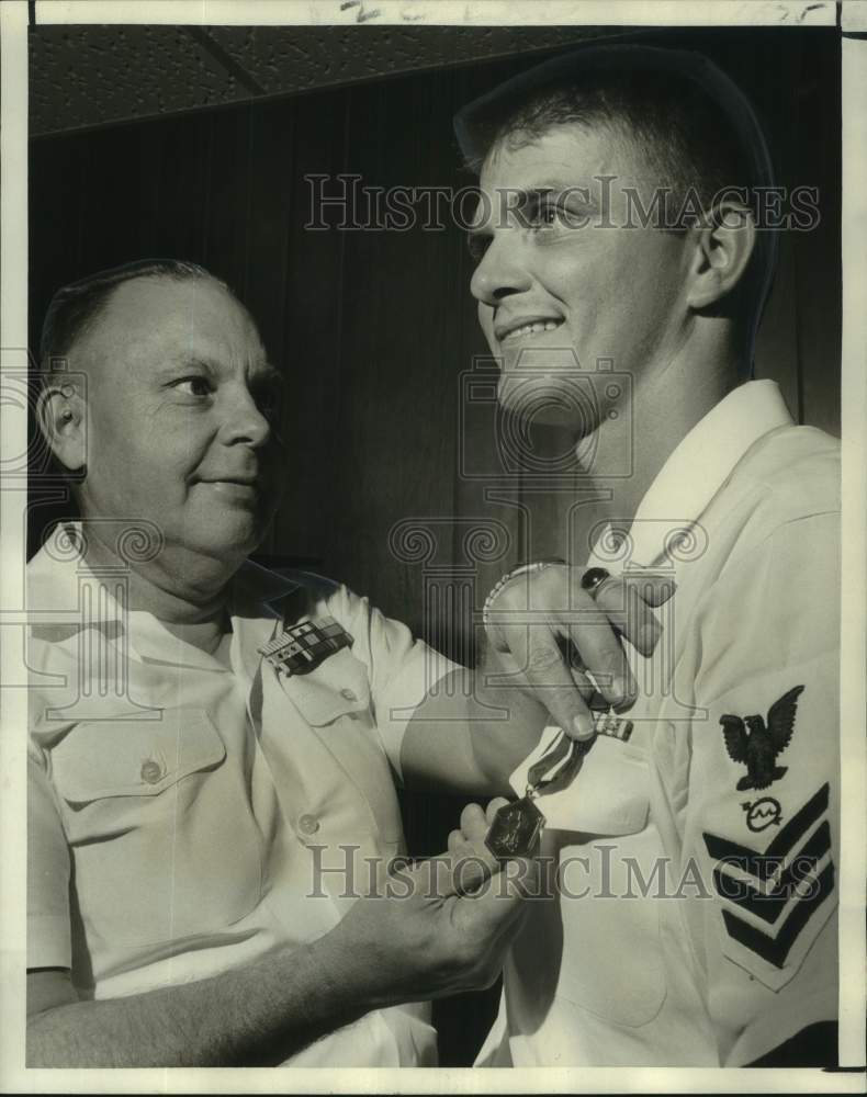
[{"label": "older man's short white sleeve beside his ribbon bar, above raised forearm", "polygon": [[434,686],[457,664],[435,652],[399,621],[385,617],[367,598],[346,587],[330,611],[352,635],[352,654],[368,667],[376,726],[383,749],[403,780],[401,746],[409,720]]}]

